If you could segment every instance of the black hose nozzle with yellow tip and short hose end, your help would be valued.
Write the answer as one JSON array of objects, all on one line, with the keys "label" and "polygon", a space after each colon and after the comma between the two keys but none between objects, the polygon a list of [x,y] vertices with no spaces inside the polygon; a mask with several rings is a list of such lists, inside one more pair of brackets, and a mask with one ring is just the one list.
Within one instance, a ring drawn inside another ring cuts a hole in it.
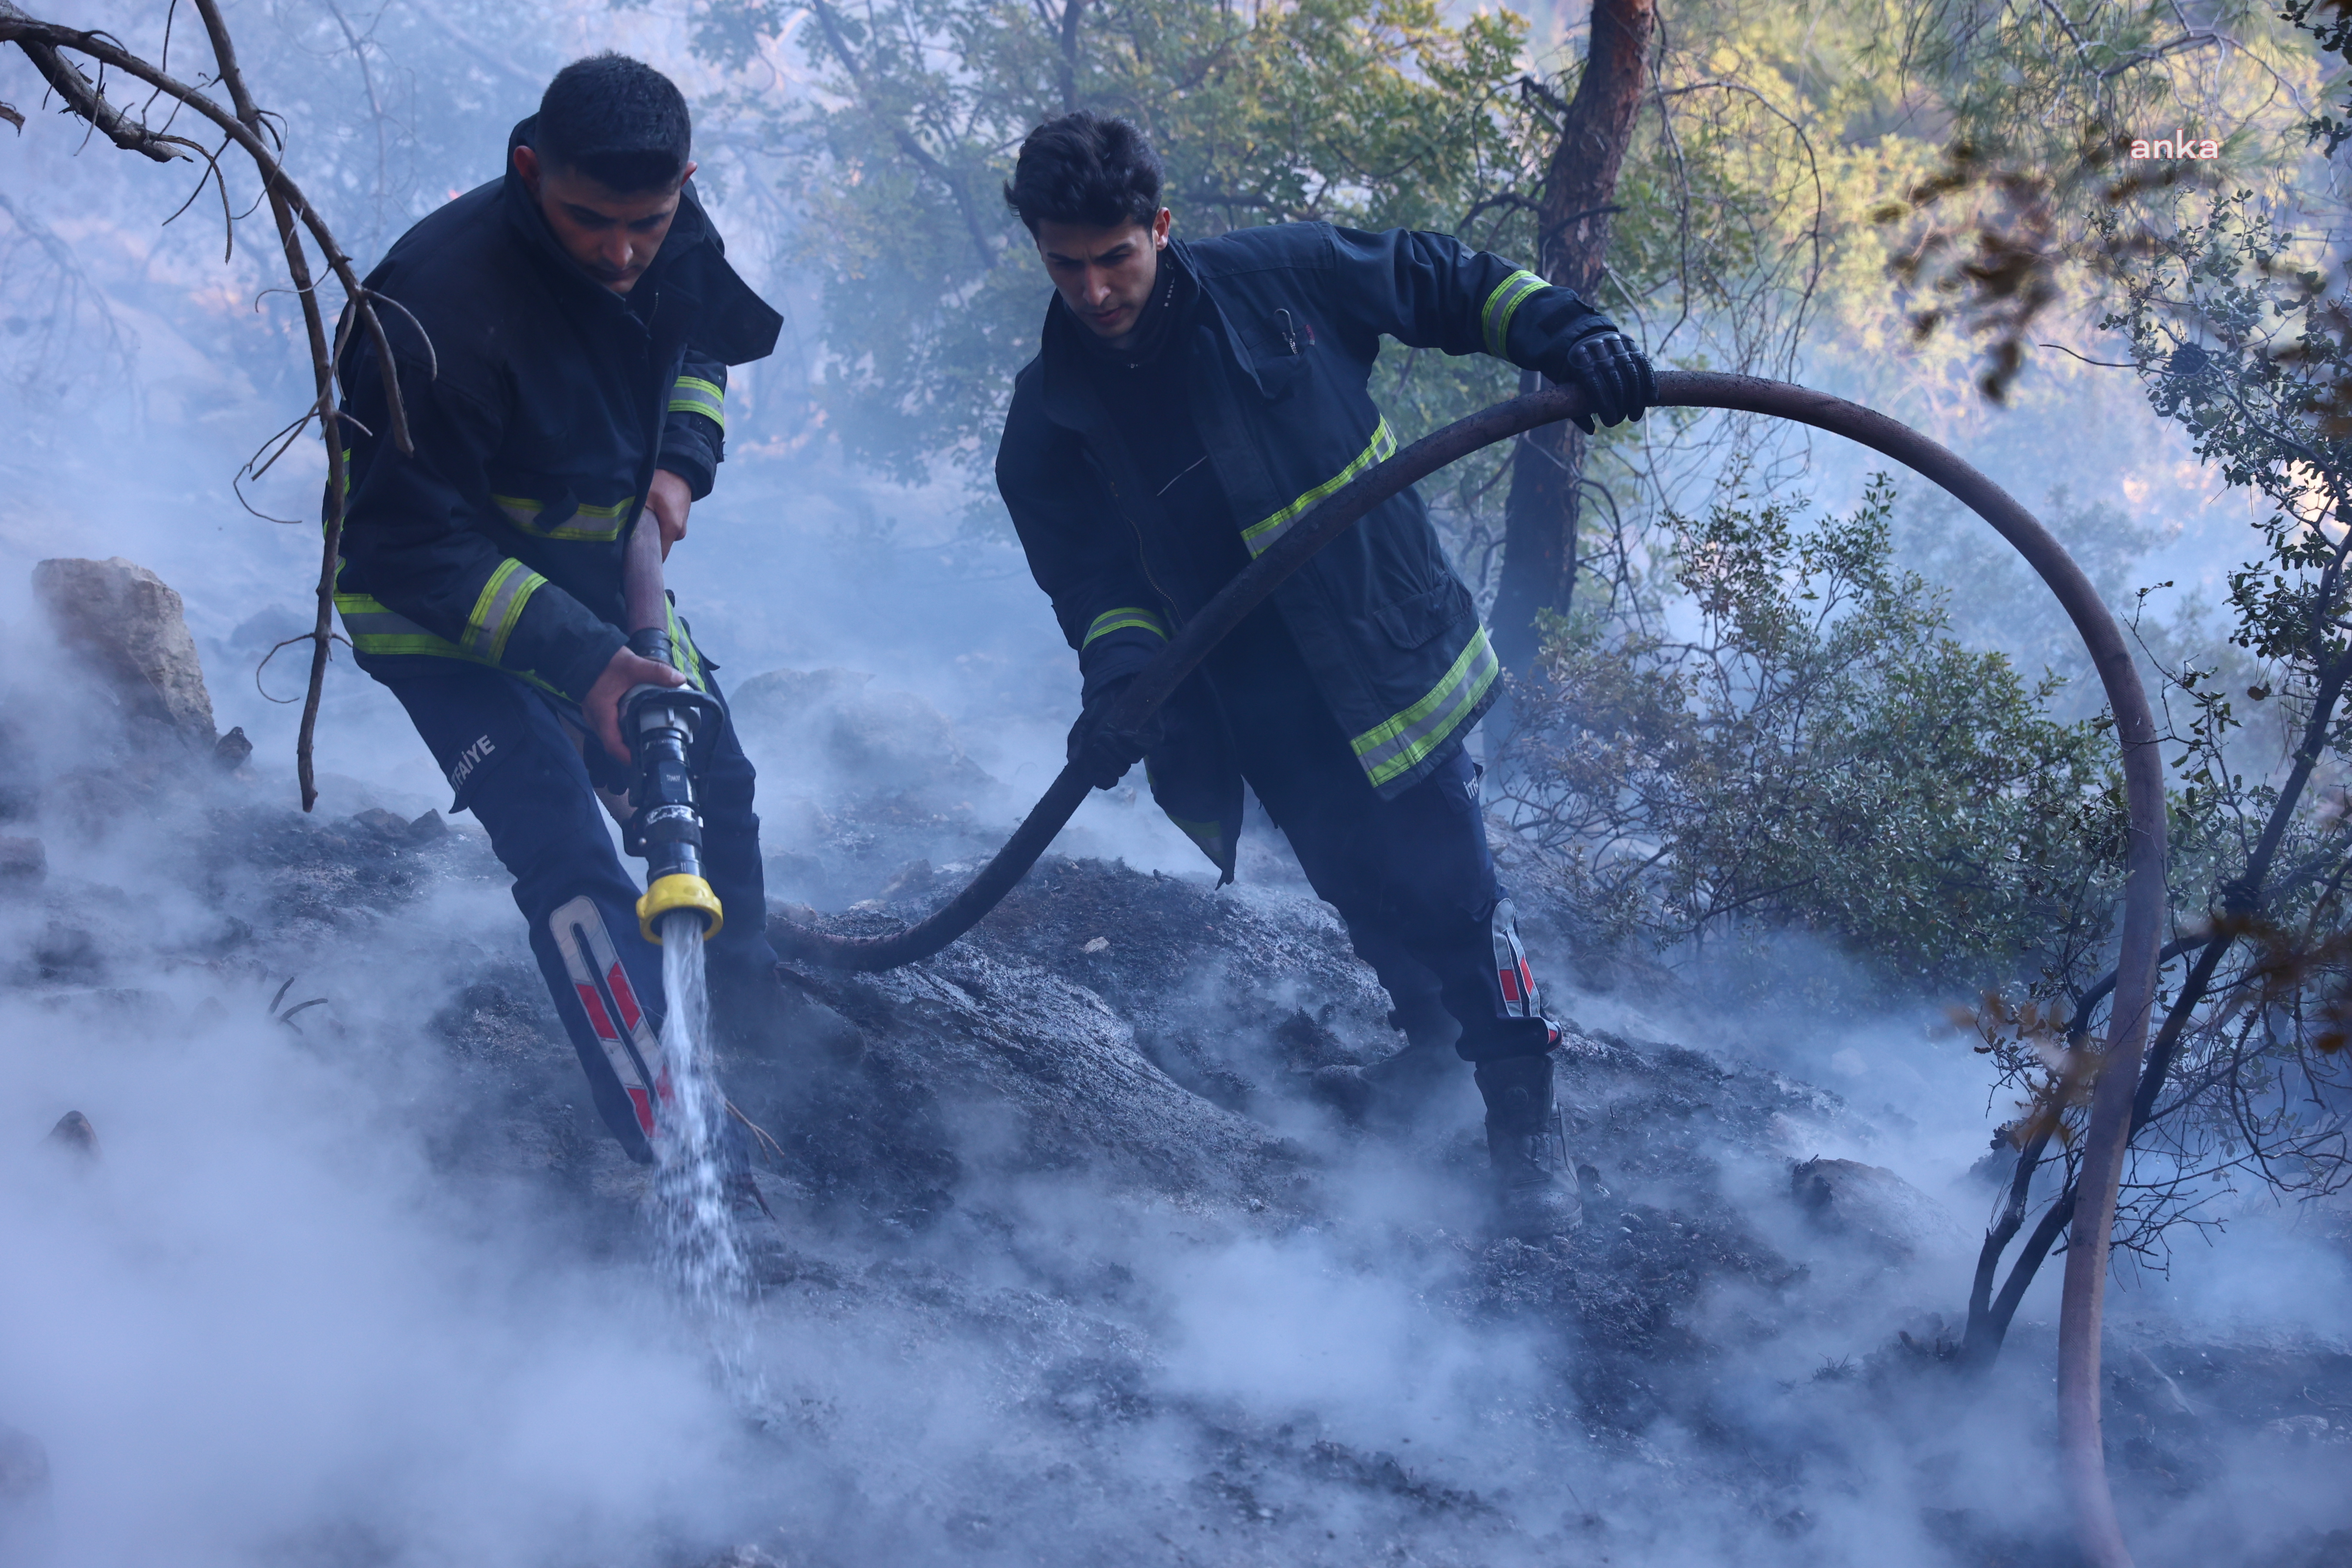
[{"label": "black hose nozzle with yellow tip and short hose end", "polygon": [[[670,597],[661,585],[661,524],[652,508],[628,536],[621,597],[630,623],[628,649],[677,670]],[[661,922],[675,910],[699,912],[703,938],[727,924],[717,893],[703,879],[703,804],[696,792],[720,717],[717,701],[694,686],[644,684],[621,696],[621,738],[628,741],[630,799],[637,804],[621,830],[621,849],[644,856],[637,929],[649,943],[661,940]]]}]

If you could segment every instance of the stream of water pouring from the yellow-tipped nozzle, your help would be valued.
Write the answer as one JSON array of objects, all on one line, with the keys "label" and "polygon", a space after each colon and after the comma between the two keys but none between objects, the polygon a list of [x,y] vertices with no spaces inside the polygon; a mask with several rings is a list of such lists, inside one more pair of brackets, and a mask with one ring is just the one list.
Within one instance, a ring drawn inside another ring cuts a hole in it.
[{"label": "stream of water pouring from the yellow-tipped nozzle", "polygon": [[654,1173],[661,1251],[696,1305],[727,1309],[743,1298],[750,1269],[727,1201],[727,1098],[710,1067],[710,994],[696,910],[661,917],[661,1072],[670,1086]]}]

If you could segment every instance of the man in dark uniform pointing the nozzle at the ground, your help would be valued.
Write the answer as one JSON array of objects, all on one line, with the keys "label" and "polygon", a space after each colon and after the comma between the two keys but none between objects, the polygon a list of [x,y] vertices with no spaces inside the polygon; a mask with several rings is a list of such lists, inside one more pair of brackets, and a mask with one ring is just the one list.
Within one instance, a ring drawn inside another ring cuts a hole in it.
[{"label": "man in dark uniform pointing the nozzle at the ground", "polygon": [[[350,494],[336,609],[362,670],[433,750],[515,877],[515,905],[604,1124],[637,1161],[659,1124],[661,952],[604,827],[626,816],[616,705],[652,682],[717,696],[675,616],[680,668],[628,651],[621,550],[640,508],[663,555],[710,494],[727,367],[781,317],[694,197],[687,101],[621,54],[564,66],[513,129],[506,174],[416,223],[369,273],[414,454],[367,334],[343,355]],[[727,724],[703,792],[713,1020],[771,1006],[753,769]],[[602,804],[600,804],[602,802]],[[736,1143],[736,1192],[748,1185]]]}]

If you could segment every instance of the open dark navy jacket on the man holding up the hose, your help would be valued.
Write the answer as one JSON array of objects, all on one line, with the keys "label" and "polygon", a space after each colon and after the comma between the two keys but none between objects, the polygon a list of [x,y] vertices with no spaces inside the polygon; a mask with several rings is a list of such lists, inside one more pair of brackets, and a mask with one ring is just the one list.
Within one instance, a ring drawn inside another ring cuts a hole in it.
[{"label": "open dark navy jacket on the man holding up the hose", "polygon": [[[1395,454],[1367,390],[1383,336],[1552,367],[1576,341],[1611,331],[1573,292],[1451,235],[1275,223],[1169,249],[1200,301],[1190,341],[1169,341],[1157,374],[1185,378],[1251,557]],[[1164,592],[1171,576],[1155,571],[1171,520],[1101,407],[1084,331],[1056,296],[1037,357],[1014,383],[997,489],[1091,698],[1141,670],[1183,607]],[[1324,545],[1272,604],[1383,797],[1416,785],[1494,703],[1494,649],[1414,489]],[[1145,759],[1152,799],[1230,879],[1242,780],[1214,696],[1195,672],[1169,705],[1176,722]]]}]

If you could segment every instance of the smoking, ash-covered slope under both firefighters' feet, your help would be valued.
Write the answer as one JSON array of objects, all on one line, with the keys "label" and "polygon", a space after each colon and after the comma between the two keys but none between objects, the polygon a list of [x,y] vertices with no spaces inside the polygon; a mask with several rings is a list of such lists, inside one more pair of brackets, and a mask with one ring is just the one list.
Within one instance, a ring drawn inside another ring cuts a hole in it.
[{"label": "smoking, ash-covered slope under both firefighters' feet", "polygon": [[[1049,858],[938,959],[788,971],[722,1065],[779,1222],[699,1316],[482,837],[306,818],[153,689],[5,705],[9,1563],[2074,1561],[2049,1331],[1940,1356],[1964,1161],[1555,992],[1588,1222],[1494,1241],[1468,1070],[1409,1128],[1317,1093],[1399,1041],[1263,835],[1223,891]],[[863,677],[736,710],[779,914],[917,917],[1009,816]],[[2345,1345],[2117,1302],[2143,1561],[2352,1561]]]}]

